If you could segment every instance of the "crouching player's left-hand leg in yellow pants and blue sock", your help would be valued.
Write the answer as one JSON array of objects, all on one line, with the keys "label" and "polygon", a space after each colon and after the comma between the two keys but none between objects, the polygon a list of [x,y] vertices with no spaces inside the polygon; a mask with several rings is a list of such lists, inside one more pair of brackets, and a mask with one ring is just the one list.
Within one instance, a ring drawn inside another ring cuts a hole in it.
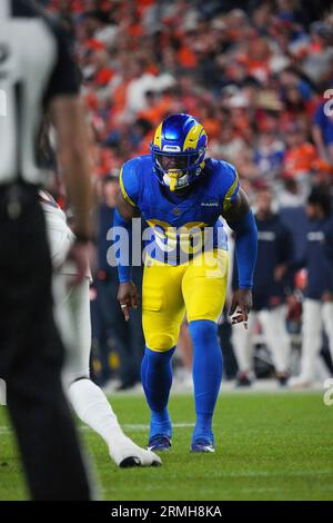
[{"label": "crouching player's left-hand leg in yellow pants and blue sock", "polygon": [[172,425],[168,402],[172,385],[171,358],[184,316],[182,267],[154,263],[144,267],[142,324],[145,352],[141,377],[151,409],[149,448],[171,446]]}]

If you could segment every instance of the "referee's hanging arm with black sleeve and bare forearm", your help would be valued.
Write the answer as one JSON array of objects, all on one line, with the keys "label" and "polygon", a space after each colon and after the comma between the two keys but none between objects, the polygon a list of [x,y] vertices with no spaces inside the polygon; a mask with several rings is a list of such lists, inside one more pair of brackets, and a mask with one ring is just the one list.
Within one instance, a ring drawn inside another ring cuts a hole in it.
[{"label": "referee's hanging arm with black sleeve and bare forearm", "polygon": [[44,106],[56,129],[59,167],[68,200],[74,210],[77,240],[69,257],[77,266],[73,284],[80,284],[87,276],[88,259],[92,256],[91,246],[88,245],[92,236],[88,132],[79,96],[78,68],[71,56],[71,48],[64,31],[58,26],[53,29],[58,59],[44,96]]}]

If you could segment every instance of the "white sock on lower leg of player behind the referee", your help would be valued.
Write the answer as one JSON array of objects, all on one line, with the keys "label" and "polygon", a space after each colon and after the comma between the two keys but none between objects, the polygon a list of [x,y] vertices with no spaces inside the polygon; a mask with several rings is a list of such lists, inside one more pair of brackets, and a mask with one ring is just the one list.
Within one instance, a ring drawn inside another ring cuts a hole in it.
[{"label": "white sock on lower leg of player behind the referee", "polygon": [[68,395],[80,420],[97,432],[109,448],[114,437],[123,435],[107,396],[91,379],[72,383]]}]

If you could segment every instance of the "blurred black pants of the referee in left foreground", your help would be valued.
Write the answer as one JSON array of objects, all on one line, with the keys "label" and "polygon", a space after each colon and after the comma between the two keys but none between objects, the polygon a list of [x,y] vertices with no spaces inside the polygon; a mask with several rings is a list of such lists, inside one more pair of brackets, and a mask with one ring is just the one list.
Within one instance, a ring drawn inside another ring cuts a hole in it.
[{"label": "blurred black pants of the referee in left foreground", "polygon": [[[12,198],[21,209],[10,217]],[[88,500],[85,471],[61,387],[63,348],[53,320],[51,276],[37,189],[0,188],[0,378],[7,383],[28,485],[33,500]]]}]

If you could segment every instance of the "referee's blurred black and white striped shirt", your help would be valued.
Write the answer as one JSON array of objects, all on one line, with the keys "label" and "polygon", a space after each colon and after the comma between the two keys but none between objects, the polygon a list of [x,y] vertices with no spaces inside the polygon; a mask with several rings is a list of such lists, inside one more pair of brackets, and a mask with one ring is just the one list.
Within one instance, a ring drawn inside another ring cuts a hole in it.
[{"label": "referee's blurred black and white striped shirt", "polygon": [[0,186],[43,181],[37,147],[44,110],[78,91],[62,28],[30,0],[0,0]]}]

